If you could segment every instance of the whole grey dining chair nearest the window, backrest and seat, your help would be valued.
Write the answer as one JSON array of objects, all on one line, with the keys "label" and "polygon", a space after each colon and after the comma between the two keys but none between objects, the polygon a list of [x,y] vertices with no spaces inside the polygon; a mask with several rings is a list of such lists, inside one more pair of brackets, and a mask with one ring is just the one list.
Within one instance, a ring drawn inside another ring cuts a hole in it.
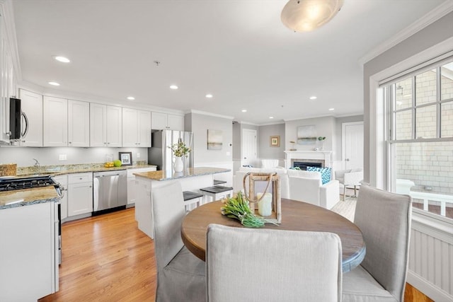
[{"label": "whole grey dining chair nearest the window, backrest and seat", "polygon": [[367,253],[343,274],[343,301],[403,301],[408,268],[412,198],[362,185],[354,223]]}]

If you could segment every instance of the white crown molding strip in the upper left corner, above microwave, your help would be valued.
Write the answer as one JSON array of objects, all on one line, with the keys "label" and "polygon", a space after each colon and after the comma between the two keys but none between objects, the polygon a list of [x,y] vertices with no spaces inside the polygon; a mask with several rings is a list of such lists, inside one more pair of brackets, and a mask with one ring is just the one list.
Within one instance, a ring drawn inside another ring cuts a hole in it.
[{"label": "white crown molding strip in the upper left corner, above microwave", "polygon": [[21,62],[19,61],[19,52],[16,39],[16,22],[14,21],[13,2],[11,0],[0,0],[0,14],[4,17],[6,40],[8,41],[13,61],[13,69],[16,73],[16,79],[22,79]]}]

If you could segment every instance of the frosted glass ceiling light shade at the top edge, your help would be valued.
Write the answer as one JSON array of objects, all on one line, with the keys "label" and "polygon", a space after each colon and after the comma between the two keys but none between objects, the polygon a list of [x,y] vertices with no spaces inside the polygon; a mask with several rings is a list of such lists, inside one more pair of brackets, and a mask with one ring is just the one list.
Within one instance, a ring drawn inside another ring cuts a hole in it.
[{"label": "frosted glass ceiling light shade at the top edge", "polygon": [[343,0],[289,0],[282,10],[282,23],[306,32],[328,23],[343,6]]}]

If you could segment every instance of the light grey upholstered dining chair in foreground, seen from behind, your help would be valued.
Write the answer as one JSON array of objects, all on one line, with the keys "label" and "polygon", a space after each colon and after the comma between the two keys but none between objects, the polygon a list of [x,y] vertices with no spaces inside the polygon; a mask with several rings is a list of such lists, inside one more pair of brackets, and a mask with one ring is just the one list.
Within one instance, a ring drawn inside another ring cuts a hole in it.
[{"label": "light grey upholstered dining chair in foreground, seen from behind", "polygon": [[341,301],[334,233],[207,227],[207,301]]}]

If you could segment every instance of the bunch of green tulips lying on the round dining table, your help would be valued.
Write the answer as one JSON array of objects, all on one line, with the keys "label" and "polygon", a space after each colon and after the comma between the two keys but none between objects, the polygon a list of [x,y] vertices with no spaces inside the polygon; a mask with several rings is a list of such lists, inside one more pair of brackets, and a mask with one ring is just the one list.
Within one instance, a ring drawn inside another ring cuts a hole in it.
[{"label": "bunch of green tulips lying on the round dining table", "polygon": [[224,204],[220,208],[222,215],[238,219],[243,226],[247,226],[248,228],[264,226],[265,219],[261,219],[252,213],[250,207],[248,207],[248,200],[243,197],[241,191],[232,198],[223,199],[222,202]]}]

